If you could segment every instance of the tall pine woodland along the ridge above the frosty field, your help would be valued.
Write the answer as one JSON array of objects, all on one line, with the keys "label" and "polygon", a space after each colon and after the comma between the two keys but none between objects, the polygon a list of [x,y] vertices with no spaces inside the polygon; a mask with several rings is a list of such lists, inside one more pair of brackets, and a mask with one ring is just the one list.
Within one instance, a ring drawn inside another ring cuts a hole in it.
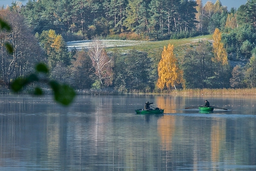
[{"label": "tall pine woodland along the ridge above the frosty field", "polygon": [[[213,33],[228,15],[220,0],[29,0],[13,3],[33,33],[53,29],[66,40],[110,38],[169,39]],[[117,36],[118,35],[118,36]]]}]

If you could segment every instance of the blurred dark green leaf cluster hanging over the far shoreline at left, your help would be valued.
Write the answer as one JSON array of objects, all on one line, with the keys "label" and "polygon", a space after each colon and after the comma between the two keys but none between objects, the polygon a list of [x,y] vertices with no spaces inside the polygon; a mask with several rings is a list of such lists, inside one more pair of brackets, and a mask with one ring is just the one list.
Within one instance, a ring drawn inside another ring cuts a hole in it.
[{"label": "blurred dark green leaf cluster hanging over the far shoreline at left", "polygon": [[[54,99],[61,103],[64,106],[69,105],[76,93],[73,88],[68,85],[60,84],[57,81],[50,80],[48,78],[49,69],[44,63],[38,63],[35,66],[35,72],[26,76],[26,77],[18,77],[16,78],[12,84],[11,89],[15,93],[23,90],[26,85],[29,85],[33,82],[41,82],[49,85],[53,90]],[[43,95],[43,90],[40,87],[34,88],[34,95]]]}]

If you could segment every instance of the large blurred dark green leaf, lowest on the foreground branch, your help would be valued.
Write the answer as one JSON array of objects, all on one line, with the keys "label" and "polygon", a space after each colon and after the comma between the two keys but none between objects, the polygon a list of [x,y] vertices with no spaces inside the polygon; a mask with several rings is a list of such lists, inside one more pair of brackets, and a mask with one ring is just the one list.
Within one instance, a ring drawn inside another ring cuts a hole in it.
[{"label": "large blurred dark green leaf, lowest on the foreground branch", "polygon": [[68,85],[58,85],[58,89],[54,87],[53,90],[55,100],[64,106],[69,105],[76,95],[74,89]]}]

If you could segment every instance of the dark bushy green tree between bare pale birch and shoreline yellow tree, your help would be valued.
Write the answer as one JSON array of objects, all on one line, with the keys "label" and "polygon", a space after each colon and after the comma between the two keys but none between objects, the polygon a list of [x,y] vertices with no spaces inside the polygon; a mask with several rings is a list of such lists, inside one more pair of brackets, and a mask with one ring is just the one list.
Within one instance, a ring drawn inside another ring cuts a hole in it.
[{"label": "dark bushy green tree between bare pale birch and shoreline yellow tree", "polygon": [[140,90],[151,92],[150,86],[151,65],[147,53],[135,49],[125,55],[119,55],[115,62],[115,89],[122,92]]}]

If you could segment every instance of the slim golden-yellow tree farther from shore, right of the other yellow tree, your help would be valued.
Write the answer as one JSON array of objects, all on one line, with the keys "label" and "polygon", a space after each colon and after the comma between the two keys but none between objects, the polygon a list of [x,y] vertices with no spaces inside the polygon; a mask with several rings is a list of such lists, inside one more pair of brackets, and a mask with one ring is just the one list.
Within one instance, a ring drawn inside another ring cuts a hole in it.
[{"label": "slim golden-yellow tree farther from shore, right of the other yellow tree", "polygon": [[222,41],[222,33],[221,31],[216,28],[213,33],[213,53],[214,57],[212,58],[212,61],[219,62],[222,65],[227,64],[227,53],[224,49],[224,44]]}]

